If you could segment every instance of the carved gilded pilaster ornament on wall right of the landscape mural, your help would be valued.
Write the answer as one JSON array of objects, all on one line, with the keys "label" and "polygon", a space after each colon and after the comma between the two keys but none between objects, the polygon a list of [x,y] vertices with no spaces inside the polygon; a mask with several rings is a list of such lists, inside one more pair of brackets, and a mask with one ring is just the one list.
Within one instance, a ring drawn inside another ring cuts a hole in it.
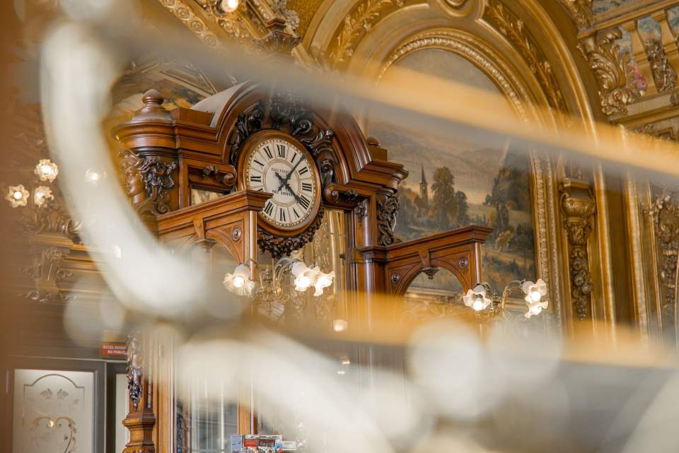
[{"label": "carved gilded pilaster ornament on wall right of the landscape mural", "polygon": [[571,306],[578,319],[591,314],[592,281],[589,269],[588,238],[596,204],[589,184],[564,179],[561,182],[561,207],[569,246]]}]

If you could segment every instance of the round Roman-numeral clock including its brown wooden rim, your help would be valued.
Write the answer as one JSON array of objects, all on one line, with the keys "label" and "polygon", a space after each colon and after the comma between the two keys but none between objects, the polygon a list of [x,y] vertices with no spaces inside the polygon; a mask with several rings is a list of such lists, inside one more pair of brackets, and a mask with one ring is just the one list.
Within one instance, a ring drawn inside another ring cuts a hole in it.
[{"label": "round Roman-numeral clock including its brown wooden rim", "polygon": [[258,225],[274,236],[306,230],[320,211],[320,174],[311,153],[282,131],[260,131],[238,158],[238,188],[274,194]]}]

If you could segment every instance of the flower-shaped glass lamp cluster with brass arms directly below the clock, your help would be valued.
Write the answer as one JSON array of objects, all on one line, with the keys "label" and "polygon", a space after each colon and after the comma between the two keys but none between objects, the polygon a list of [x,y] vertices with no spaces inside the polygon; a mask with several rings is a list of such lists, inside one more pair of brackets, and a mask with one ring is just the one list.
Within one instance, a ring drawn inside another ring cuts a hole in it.
[{"label": "flower-shaped glass lamp cluster with brass arms directly below the clock", "polygon": [[[256,273],[259,282],[251,277]],[[325,273],[318,266],[307,266],[299,259],[284,257],[279,259],[274,266],[262,265],[254,259],[248,259],[238,264],[233,272],[224,276],[224,287],[231,293],[253,298],[258,304],[265,304],[267,314],[270,314],[272,302],[279,300],[287,302],[290,294],[282,286],[286,274],[291,275],[295,290],[304,293],[308,288],[314,289],[313,295],[323,295],[323,290],[332,285],[335,271]],[[259,285],[257,285],[259,283]]]}]

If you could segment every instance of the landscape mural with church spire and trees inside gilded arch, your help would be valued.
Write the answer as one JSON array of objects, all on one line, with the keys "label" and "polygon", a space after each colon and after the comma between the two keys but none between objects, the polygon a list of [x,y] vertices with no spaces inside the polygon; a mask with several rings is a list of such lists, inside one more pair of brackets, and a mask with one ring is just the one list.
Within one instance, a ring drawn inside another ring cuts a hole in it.
[{"label": "landscape mural with church spire and trees inside gilded arch", "polygon": [[[422,49],[395,66],[499,93],[476,66],[448,51]],[[513,114],[509,104],[506,114]],[[494,231],[483,247],[485,279],[501,290],[515,278],[535,276],[525,154],[513,151],[504,139],[479,146],[465,137],[451,142],[381,122],[369,122],[367,129],[388,149],[389,159],[410,172],[400,187],[397,237],[411,240],[472,223],[487,225]],[[447,277],[439,279],[439,287],[457,288],[452,274]]]}]

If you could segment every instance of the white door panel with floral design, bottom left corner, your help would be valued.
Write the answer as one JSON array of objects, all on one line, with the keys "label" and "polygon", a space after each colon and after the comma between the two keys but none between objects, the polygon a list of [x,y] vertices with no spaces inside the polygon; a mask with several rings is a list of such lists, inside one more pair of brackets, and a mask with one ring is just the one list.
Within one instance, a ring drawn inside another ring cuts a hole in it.
[{"label": "white door panel with floral design, bottom left corner", "polygon": [[94,453],[94,373],[15,370],[13,453]]}]

